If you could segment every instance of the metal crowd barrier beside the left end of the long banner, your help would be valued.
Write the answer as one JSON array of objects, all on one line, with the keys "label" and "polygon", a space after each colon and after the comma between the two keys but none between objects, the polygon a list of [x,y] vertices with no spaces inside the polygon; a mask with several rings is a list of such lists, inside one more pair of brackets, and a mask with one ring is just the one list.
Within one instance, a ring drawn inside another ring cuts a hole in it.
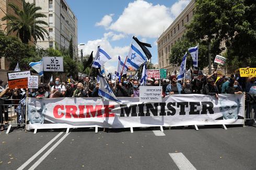
[{"label": "metal crowd barrier beside the left end of the long banner", "polygon": [[25,128],[26,99],[3,99],[0,98],[0,124],[7,125],[6,133],[9,133],[11,126]]}]

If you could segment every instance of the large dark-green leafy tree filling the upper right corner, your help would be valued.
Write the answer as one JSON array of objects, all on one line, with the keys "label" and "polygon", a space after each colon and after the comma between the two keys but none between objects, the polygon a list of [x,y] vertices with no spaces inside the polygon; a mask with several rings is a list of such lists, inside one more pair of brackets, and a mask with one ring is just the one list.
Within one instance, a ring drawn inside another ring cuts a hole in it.
[{"label": "large dark-green leafy tree filling the upper right corner", "polygon": [[234,59],[252,66],[256,58],[255,17],[255,1],[252,0],[197,0],[193,19],[186,26],[186,36],[191,42],[207,41],[212,56],[226,47],[227,64],[232,64]]}]

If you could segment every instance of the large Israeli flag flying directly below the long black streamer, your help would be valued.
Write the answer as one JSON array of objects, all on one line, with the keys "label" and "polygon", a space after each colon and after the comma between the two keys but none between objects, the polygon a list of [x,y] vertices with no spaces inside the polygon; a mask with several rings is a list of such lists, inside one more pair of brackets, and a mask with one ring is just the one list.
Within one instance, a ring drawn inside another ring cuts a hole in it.
[{"label": "large Israeli flag flying directly below the long black streamer", "polygon": [[145,56],[132,44],[127,56],[127,65],[137,70],[145,62]]}]

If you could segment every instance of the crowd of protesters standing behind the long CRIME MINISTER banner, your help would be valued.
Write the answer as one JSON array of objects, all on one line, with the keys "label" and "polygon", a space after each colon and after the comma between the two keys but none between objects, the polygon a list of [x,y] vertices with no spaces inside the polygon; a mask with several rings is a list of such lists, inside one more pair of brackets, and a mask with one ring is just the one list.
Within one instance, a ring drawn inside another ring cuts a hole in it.
[{"label": "crowd of protesters standing behind the long CRIME MINISTER banner", "polygon": [[[246,100],[251,104],[247,108],[247,114],[254,109],[256,99],[256,78],[243,78],[238,74],[232,74],[230,77],[217,77],[217,71],[212,75],[191,76],[191,78],[178,81],[177,76],[172,74],[168,79],[156,80],[148,78],[146,86],[161,86],[162,98],[173,94],[206,94],[212,95],[218,99],[218,94],[242,94],[246,92]],[[69,78],[67,82],[61,82],[60,78],[55,78],[54,82],[49,84],[39,84],[38,89],[9,89],[2,87],[2,80],[0,80],[0,98],[2,99],[24,99],[26,96],[32,98],[60,98],[60,97],[99,97],[98,89],[99,82],[90,77],[74,81]],[[122,78],[119,80],[108,80],[109,86],[115,96],[117,97],[138,97],[139,87],[142,86],[139,80],[135,77]],[[2,112],[3,113],[3,112]],[[5,118],[8,119],[8,114],[5,113]],[[1,124],[3,125],[3,118]],[[5,119],[5,120],[7,120]],[[3,126],[1,127],[3,130]]]}]

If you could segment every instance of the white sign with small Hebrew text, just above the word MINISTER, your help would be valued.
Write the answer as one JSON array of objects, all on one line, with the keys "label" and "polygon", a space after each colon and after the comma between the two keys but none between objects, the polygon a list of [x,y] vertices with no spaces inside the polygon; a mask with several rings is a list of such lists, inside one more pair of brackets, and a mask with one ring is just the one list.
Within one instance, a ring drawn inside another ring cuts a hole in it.
[{"label": "white sign with small Hebrew text, just above the word MINISTER", "polygon": [[162,102],[161,86],[141,86],[139,87],[139,102]]}]

